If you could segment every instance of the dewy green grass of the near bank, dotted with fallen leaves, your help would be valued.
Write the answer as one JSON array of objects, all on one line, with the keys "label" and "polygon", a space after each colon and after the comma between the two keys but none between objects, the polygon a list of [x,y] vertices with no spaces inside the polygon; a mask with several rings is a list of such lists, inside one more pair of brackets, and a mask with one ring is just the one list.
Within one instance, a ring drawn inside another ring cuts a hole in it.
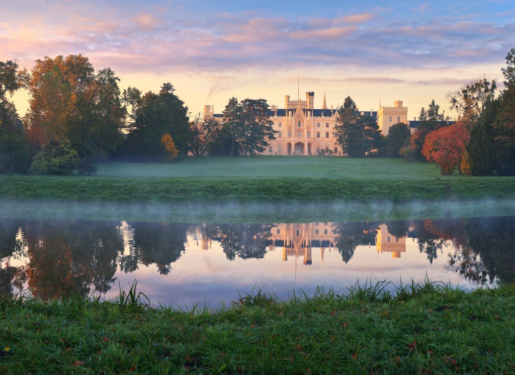
[{"label": "dewy green grass of the near bank, dotted with fallen leaves", "polygon": [[[3,300],[4,373],[513,373],[515,287],[464,292],[434,283],[278,302],[258,292],[231,309]],[[141,297],[141,296],[140,296]]]}]

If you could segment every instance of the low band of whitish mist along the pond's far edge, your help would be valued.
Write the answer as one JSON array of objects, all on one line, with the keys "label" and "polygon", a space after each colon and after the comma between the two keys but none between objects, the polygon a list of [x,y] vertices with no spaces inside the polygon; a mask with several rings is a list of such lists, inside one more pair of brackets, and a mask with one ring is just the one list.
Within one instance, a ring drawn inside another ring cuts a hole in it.
[{"label": "low band of whitish mist along the pond's far edge", "polygon": [[501,216],[515,213],[515,199],[321,202],[70,202],[1,200],[0,218],[55,218],[180,222],[385,220]]}]

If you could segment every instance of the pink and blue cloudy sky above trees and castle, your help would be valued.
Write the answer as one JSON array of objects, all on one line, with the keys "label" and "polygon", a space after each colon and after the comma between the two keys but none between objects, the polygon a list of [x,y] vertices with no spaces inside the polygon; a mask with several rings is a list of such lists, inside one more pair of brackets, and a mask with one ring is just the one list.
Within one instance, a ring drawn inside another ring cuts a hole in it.
[{"label": "pink and blue cloudy sky above trees and castle", "polygon": [[[315,108],[325,92],[328,106],[350,95],[360,110],[403,100],[410,120],[432,99],[449,112],[445,94],[502,81],[514,47],[512,0],[0,0],[0,60],[30,70],[82,54],[121,88],[173,83],[193,115],[233,96],[284,108],[298,89],[315,92]],[[14,95],[21,115],[27,98]]]}]

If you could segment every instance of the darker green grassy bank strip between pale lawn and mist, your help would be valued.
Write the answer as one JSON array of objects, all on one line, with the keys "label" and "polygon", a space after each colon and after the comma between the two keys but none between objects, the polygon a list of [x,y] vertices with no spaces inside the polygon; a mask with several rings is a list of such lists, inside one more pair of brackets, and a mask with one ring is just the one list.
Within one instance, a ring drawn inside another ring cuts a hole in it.
[{"label": "darker green grassy bank strip between pale lawn and mist", "polygon": [[515,177],[114,178],[0,176],[3,199],[104,202],[381,201],[514,198]]}]

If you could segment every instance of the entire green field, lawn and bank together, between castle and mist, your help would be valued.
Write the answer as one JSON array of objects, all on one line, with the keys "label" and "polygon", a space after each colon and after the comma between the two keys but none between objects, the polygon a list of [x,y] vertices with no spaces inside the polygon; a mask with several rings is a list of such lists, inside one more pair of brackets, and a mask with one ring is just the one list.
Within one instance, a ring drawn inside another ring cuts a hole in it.
[{"label": "entire green field, lawn and bank together, between castle and mist", "polygon": [[338,157],[101,164],[97,176],[0,176],[3,199],[130,202],[514,198],[515,177],[440,176],[433,164]]}]

